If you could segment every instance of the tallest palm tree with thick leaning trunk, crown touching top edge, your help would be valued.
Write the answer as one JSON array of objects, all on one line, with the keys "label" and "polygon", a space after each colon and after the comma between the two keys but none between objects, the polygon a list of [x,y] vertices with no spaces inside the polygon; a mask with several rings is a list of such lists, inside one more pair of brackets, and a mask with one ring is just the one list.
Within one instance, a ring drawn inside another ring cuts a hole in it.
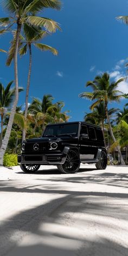
[{"label": "tallest palm tree with thick leaning trunk, crown touching top edge", "polygon": [[5,33],[13,25],[17,25],[16,29],[16,42],[15,42],[15,53],[14,53],[14,73],[15,73],[15,100],[11,108],[9,123],[7,126],[7,131],[5,133],[2,146],[0,149],[0,165],[3,165],[3,156],[8,145],[8,140],[11,133],[11,127],[14,120],[14,115],[16,112],[16,106],[18,102],[18,71],[17,71],[17,54],[18,54],[18,45],[20,41],[20,34],[23,24],[36,25],[44,27],[50,32],[54,32],[59,25],[49,18],[33,16],[37,12],[41,11],[44,8],[55,8],[60,9],[61,3],[59,0],[2,0],[2,4],[5,9],[9,11],[10,17],[0,18],[0,24],[2,29],[0,33]]}]

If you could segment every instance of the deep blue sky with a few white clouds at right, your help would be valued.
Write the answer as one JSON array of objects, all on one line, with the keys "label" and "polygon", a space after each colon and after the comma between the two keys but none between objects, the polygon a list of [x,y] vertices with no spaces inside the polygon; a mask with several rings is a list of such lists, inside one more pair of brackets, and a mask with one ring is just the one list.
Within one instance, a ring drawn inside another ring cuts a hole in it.
[{"label": "deep blue sky with a few white clouds at right", "polygon": [[[33,68],[29,103],[33,97],[52,94],[55,101],[65,101],[71,121],[83,120],[91,102],[80,99],[78,94],[89,91],[86,81],[93,80],[100,72],[108,71],[112,79],[126,75],[124,63],[128,57],[128,26],[116,21],[116,16],[128,15],[127,0],[63,0],[61,11],[45,10],[44,17],[61,24],[57,31],[43,40],[59,50],[59,56],[41,53],[33,48]],[[0,16],[7,14],[0,10]],[[11,36],[1,36],[0,48],[8,50]],[[0,81],[7,85],[14,79],[13,66],[6,67],[6,56],[0,53]],[[18,60],[19,85],[25,88],[28,72],[28,55]],[[121,91],[128,93],[128,83],[120,84]],[[24,104],[25,92],[18,104]],[[127,100],[111,104],[123,108]]]}]

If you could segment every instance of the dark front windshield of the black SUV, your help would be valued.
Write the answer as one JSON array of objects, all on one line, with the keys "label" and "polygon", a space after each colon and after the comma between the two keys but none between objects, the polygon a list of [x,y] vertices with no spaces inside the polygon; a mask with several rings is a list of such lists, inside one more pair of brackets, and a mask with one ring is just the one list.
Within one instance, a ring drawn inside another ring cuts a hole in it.
[{"label": "dark front windshield of the black SUV", "polygon": [[54,137],[63,135],[76,136],[78,134],[79,124],[59,124],[59,125],[49,125],[43,133],[43,137]]}]

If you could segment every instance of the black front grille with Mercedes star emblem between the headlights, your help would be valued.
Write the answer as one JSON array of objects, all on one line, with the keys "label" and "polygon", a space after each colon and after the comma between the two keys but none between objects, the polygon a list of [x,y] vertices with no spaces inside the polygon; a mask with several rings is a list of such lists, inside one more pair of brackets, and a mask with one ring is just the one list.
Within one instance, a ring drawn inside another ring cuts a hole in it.
[{"label": "black front grille with Mercedes star emblem between the headlights", "polygon": [[39,153],[47,149],[47,143],[26,143],[25,152]]}]

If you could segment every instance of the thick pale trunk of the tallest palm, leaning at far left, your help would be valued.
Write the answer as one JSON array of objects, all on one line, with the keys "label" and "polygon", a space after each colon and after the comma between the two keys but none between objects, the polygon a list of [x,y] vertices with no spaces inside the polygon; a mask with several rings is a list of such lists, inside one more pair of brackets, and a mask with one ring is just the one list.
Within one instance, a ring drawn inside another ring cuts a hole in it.
[{"label": "thick pale trunk of the tallest palm, leaning at far left", "polygon": [[20,33],[21,33],[21,24],[19,20],[17,20],[17,34],[16,34],[16,48],[15,48],[15,54],[14,54],[14,71],[15,71],[15,100],[11,108],[10,117],[9,117],[9,123],[7,126],[7,130],[2,142],[2,146],[0,149],[0,165],[3,165],[3,156],[5,153],[5,150],[8,146],[8,141],[11,133],[12,124],[14,121],[14,115],[16,113],[16,106],[18,102],[18,70],[17,70],[17,55],[18,55],[18,43],[20,39]]}]

